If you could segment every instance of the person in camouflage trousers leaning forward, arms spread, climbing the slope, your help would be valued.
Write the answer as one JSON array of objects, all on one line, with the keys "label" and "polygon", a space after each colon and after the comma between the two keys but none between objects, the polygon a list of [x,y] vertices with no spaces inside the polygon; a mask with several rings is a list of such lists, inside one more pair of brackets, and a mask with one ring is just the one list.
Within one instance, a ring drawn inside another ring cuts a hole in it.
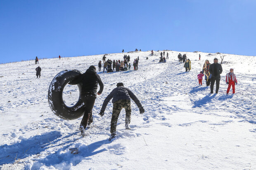
[{"label": "person in camouflage trousers leaning forward, arms spread, climbing the slope", "polygon": [[137,107],[140,109],[140,114],[144,113],[145,110],[142,107],[140,100],[137,99],[137,97],[131,92],[128,88],[123,86],[123,83],[117,83],[117,87],[114,88],[111,93],[105,98],[101,110],[100,110],[100,116],[104,115],[104,111],[107,107],[107,104],[112,99],[113,103],[113,112],[112,112],[112,119],[111,119],[111,126],[110,126],[110,132],[111,137],[110,139],[113,139],[116,136],[116,125],[117,125],[117,119],[119,117],[119,114],[121,110],[124,108],[126,110],[126,129],[130,129],[130,114],[132,112],[132,109],[130,107],[130,98],[133,99]]}]

